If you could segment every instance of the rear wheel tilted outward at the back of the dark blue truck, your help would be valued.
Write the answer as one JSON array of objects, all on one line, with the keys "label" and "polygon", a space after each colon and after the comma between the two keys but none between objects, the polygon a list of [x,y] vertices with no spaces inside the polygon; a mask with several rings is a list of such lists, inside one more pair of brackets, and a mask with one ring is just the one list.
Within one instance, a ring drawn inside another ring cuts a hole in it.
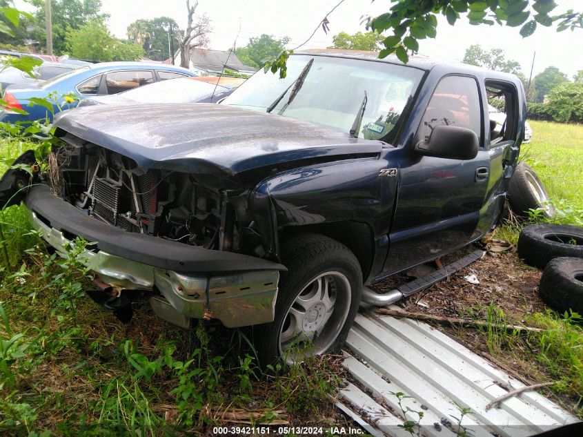
[{"label": "rear wheel tilted outward at the back of the dark blue truck", "polygon": [[535,171],[519,162],[508,185],[508,203],[512,211],[521,217],[528,217],[531,209],[542,208],[545,217],[552,217],[553,206],[549,203],[549,193]]}]

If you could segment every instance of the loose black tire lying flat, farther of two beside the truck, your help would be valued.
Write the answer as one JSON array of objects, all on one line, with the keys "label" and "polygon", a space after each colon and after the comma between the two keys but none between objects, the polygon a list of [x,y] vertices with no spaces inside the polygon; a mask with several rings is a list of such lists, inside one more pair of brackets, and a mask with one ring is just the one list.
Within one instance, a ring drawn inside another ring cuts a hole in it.
[{"label": "loose black tire lying flat, farther of two beside the truck", "polygon": [[525,226],[518,236],[518,258],[544,269],[553,258],[583,258],[583,228],[565,224]]}]

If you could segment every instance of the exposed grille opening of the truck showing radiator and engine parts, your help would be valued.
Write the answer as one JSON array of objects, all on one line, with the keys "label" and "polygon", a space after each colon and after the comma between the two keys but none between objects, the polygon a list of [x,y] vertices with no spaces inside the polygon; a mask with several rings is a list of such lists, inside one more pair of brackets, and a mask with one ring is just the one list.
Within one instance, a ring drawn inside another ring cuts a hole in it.
[{"label": "exposed grille opening of the truck showing radiator and engine parts", "polygon": [[95,144],[69,145],[54,150],[59,177],[50,179],[64,200],[128,232],[217,245],[218,190],[199,186],[186,173],[138,168],[128,157]]}]

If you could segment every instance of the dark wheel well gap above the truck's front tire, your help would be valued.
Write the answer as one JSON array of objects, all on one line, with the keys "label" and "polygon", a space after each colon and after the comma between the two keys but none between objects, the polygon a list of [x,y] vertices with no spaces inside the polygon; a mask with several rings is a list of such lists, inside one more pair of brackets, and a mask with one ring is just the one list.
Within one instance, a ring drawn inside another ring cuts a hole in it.
[{"label": "dark wheel well gap above the truck's front tire", "polygon": [[326,235],[326,237],[344,244],[357,258],[360,269],[362,270],[362,278],[368,277],[374,255],[373,231],[368,224],[359,222],[330,222],[307,224],[304,226],[286,226],[279,231],[279,242],[285,242],[292,235],[306,232]]}]

